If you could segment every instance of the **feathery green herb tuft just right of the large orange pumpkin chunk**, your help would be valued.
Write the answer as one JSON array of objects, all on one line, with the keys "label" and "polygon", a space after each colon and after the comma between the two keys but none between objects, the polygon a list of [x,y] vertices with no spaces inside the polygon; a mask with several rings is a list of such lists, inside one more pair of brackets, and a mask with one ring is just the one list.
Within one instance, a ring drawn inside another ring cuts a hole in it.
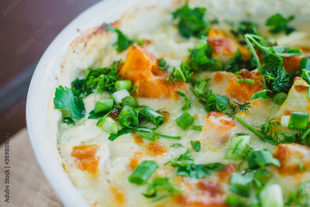
[{"label": "feathery green herb tuft just right of the large orange pumpkin chunk", "polygon": [[187,82],[192,78],[193,72],[190,70],[188,63],[182,62],[180,67],[174,67],[169,75],[165,78],[165,83],[170,83],[172,79],[173,83],[178,81]]}]

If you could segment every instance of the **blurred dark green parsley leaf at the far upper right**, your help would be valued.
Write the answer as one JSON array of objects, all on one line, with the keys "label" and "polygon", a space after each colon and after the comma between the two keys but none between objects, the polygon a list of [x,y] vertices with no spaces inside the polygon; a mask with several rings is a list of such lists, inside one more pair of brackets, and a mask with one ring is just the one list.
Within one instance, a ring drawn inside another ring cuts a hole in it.
[{"label": "blurred dark green parsley leaf at the far upper right", "polygon": [[268,18],[266,21],[266,26],[272,26],[272,29],[269,29],[268,32],[272,34],[278,34],[282,31],[285,32],[285,34],[290,34],[295,29],[292,27],[289,27],[287,24],[294,19],[294,16],[289,16],[287,19],[285,19],[281,14],[275,14]]}]

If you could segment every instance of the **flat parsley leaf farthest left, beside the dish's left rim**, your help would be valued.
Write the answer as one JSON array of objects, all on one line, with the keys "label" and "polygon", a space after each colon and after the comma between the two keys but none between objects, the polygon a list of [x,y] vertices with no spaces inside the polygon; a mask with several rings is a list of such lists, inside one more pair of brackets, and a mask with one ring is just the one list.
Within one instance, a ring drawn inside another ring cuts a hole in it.
[{"label": "flat parsley leaf farthest left, beside the dish's left rim", "polygon": [[69,110],[75,120],[79,121],[85,116],[83,99],[74,98],[72,90],[66,86],[56,88],[54,104],[56,109]]}]

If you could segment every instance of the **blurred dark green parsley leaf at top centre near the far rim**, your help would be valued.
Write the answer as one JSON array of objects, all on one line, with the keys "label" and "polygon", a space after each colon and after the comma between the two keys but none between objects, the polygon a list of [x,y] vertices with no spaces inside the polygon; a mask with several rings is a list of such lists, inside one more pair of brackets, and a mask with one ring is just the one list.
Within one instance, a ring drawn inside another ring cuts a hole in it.
[{"label": "blurred dark green parsley leaf at top centre near the far rim", "polygon": [[187,3],[184,7],[173,12],[173,18],[179,18],[179,33],[185,38],[190,38],[191,36],[201,37],[201,35],[206,35],[209,22],[204,18],[205,12],[205,8],[197,7],[191,9],[188,7]]}]

